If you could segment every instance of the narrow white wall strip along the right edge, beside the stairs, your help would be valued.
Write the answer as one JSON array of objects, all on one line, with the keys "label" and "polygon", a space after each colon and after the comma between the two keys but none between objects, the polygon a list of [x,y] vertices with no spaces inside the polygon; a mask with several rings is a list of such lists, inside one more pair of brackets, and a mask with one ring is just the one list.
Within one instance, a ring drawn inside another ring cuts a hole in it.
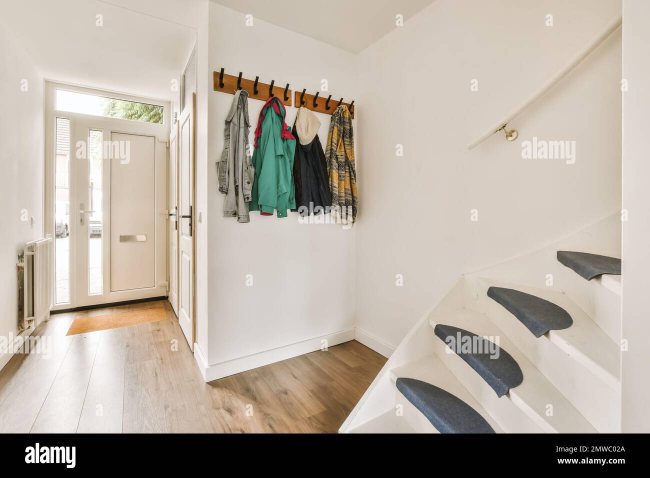
[{"label": "narrow white wall strip along the right edge, beside the stairs", "polygon": [[623,327],[628,351],[621,357],[622,431],[650,432],[650,387],[648,364],[650,322],[647,313],[647,271],[650,267],[650,3],[623,1],[623,78],[629,90],[623,93],[623,207],[629,219],[623,222]]}]

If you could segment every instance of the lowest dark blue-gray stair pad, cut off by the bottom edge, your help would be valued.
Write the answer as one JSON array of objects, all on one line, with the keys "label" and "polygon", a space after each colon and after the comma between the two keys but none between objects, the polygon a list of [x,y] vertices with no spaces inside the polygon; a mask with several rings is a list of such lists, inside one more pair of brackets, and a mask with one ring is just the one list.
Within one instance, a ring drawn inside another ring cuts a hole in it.
[{"label": "lowest dark blue-gray stair pad, cut off by the bottom edge", "polygon": [[396,386],[441,433],[495,433],[474,408],[446,390],[405,377],[398,378]]}]

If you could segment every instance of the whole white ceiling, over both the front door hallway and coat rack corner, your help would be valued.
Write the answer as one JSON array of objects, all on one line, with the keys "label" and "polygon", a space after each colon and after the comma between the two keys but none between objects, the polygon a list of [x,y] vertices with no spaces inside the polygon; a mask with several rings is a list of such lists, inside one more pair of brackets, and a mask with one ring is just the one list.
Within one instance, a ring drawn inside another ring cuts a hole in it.
[{"label": "whole white ceiling, over both the front door hallway and coat rack corner", "polygon": [[[434,0],[213,0],[358,53]],[[0,23],[46,79],[170,100],[196,41],[198,0],[0,0]],[[103,26],[96,26],[96,15]]]}]

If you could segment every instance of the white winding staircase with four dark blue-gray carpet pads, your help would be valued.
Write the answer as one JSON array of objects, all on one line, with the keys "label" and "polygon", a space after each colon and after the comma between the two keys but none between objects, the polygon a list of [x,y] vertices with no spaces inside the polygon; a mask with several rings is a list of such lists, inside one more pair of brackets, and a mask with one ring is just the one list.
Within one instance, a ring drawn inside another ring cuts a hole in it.
[{"label": "white winding staircase with four dark blue-gray carpet pads", "polygon": [[467,274],[340,432],[620,431],[620,221]]}]

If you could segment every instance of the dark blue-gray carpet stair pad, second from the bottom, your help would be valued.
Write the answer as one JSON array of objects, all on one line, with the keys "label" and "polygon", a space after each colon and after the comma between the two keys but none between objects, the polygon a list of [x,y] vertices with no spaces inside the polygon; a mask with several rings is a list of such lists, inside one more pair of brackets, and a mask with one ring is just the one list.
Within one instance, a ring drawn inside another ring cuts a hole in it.
[{"label": "dark blue-gray carpet stair pad, second from the bottom", "polygon": [[499,345],[452,325],[437,324],[434,333],[502,397],[523,382],[519,364]]}]

